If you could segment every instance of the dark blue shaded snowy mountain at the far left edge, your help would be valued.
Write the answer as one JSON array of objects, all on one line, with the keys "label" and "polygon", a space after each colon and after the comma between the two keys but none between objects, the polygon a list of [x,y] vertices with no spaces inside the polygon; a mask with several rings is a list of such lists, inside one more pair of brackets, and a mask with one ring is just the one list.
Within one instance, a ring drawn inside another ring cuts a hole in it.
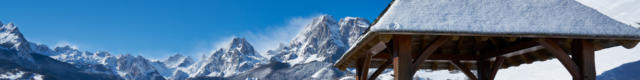
[{"label": "dark blue shaded snowy mountain at the far left edge", "polygon": [[28,42],[13,23],[0,25],[0,79],[121,79],[85,73],[72,64],[52,59],[47,56],[54,53],[52,50]]}]

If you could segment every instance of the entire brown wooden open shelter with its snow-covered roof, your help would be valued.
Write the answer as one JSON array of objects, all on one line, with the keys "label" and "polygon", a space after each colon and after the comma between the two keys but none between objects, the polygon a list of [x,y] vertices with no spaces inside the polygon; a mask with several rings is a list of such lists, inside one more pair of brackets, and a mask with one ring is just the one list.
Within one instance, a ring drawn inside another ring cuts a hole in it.
[{"label": "entire brown wooden open shelter with its snow-covered roof", "polygon": [[574,80],[595,80],[594,51],[639,40],[640,29],[573,0],[395,0],[334,66],[356,68],[357,80],[387,68],[396,80],[419,69],[493,80],[499,69],[557,58]]}]

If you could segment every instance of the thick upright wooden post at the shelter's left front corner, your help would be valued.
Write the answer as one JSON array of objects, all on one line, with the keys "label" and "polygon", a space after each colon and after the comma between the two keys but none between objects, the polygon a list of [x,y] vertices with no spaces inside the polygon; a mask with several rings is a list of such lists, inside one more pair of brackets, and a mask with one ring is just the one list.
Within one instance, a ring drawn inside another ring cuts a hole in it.
[{"label": "thick upright wooden post at the shelter's left front corner", "polygon": [[412,80],[411,36],[393,36],[393,74],[395,80]]}]

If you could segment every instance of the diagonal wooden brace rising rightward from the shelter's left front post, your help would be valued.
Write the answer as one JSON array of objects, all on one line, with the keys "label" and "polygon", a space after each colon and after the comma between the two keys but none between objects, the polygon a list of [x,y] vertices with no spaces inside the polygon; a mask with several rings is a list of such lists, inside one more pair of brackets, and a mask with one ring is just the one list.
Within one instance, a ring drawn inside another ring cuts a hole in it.
[{"label": "diagonal wooden brace rising rightward from the shelter's left front post", "polygon": [[421,65],[422,62],[424,62],[425,59],[429,58],[429,56],[431,56],[433,52],[438,50],[438,48],[440,48],[440,46],[442,46],[444,43],[446,43],[447,41],[450,41],[450,38],[451,37],[448,37],[448,36],[440,36],[437,38],[437,40],[429,44],[429,46],[425,48],[424,51],[422,51],[422,54],[420,54],[420,56],[412,62],[414,69],[417,70],[418,67]]}]

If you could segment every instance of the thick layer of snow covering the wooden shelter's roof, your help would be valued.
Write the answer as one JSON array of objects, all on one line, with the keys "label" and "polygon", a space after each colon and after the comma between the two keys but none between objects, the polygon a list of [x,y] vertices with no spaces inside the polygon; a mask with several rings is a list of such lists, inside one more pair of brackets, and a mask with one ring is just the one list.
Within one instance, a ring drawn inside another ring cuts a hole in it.
[{"label": "thick layer of snow covering the wooden shelter's roof", "polygon": [[640,29],[574,0],[396,0],[370,32],[640,38]]}]

